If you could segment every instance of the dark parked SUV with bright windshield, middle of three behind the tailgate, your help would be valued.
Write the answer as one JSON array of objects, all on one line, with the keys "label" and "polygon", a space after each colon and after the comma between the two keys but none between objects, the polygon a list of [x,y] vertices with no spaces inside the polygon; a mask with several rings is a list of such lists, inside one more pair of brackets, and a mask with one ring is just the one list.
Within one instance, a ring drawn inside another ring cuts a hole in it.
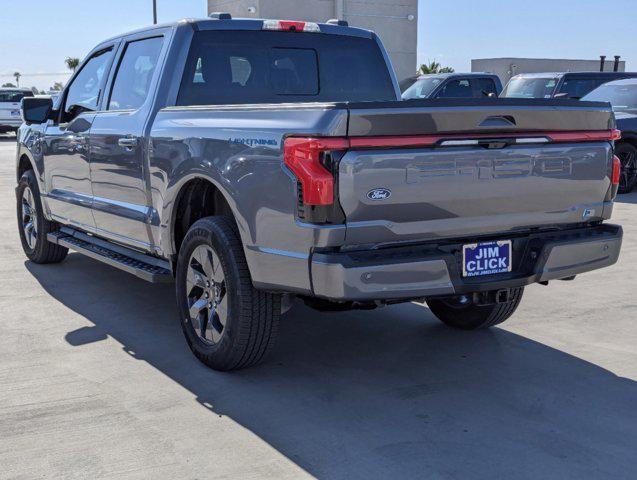
[{"label": "dark parked SUV with bright windshield, middle of three behind the tailgate", "polygon": [[579,100],[604,83],[635,77],[637,77],[635,72],[522,73],[509,80],[500,96]]}]

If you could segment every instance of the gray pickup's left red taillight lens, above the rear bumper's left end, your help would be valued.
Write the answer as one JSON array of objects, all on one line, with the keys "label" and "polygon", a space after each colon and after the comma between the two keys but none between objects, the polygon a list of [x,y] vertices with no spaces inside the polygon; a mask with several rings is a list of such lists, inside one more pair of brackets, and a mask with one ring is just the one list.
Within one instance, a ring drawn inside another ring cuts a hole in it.
[{"label": "gray pickup's left red taillight lens, above the rear bumper's left end", "polygon": [[334,203],[334,176],[321,164],[321,155],[349,147],[345,138],[285,139],[283,158],[303,186],[303,203],[331,205]]}]

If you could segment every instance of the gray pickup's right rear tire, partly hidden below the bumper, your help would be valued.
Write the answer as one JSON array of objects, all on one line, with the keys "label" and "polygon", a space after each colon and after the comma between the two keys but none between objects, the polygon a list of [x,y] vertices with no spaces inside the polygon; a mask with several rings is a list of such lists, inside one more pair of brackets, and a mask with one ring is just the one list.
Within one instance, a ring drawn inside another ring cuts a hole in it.
[{"label": "gray pickup's right rear tire, partly hidden below the bumper", "polygon": [[507,320],[520,305],[524,287],[512,288],[509,301],[492,305],[475,305],[467,296],[427,299],[427,305],[442,323],[462,330],[493,327]]}]

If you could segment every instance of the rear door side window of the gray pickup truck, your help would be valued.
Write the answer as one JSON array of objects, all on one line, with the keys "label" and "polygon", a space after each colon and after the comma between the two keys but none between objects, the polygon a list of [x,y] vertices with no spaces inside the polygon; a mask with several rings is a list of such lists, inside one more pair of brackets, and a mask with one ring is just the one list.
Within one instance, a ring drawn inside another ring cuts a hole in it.
[{"label": "rear door side window of the gray pickup truck", "polygon": [[108,110],[135,110],[144,104],[162,43],[163,37],[154,37],[126,45],[115,74]]}]

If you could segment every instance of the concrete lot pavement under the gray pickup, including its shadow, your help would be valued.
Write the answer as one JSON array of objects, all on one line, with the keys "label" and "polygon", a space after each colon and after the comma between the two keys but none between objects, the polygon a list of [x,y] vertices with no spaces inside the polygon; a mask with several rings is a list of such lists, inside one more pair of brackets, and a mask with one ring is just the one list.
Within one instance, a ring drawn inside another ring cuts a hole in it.
[{"label": "concrete lot pavement under the gray pickup, including its shadow", "polygon": [[620,263],[527,288],[502,328],[297,305],[266,365],[222,374],[171,285],[26,261],[14,152],[0,138],[0,478],[637,477],[637,193]]}]

